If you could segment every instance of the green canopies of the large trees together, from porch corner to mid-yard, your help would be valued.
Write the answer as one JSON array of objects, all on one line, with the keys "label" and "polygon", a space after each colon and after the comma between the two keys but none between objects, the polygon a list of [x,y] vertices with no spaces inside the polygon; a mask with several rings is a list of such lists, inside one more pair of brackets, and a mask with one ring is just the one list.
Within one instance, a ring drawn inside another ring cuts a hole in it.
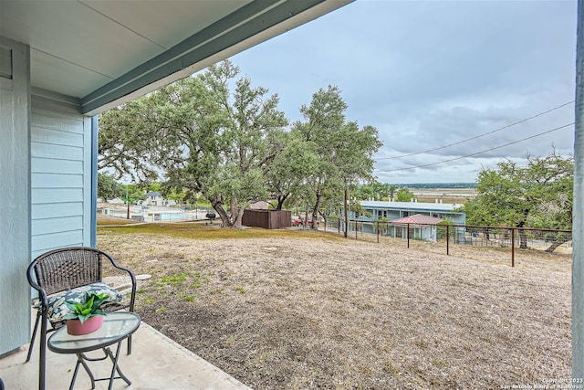
[{"label": "green canopies of the large trees together, from porch corner to mid-yard", "polygon": [[224,61],[105,113],[99,168],[138,184],[162,174],[164,195],[202,195],[224,227],[240,227],[245,208],[270,197],[276,209],[310,206],[314,218],[339,211],[346,188],[372,181],[379,134],[345,120],[337,87],[318,90],[285,132],[277,96],[238,74]]}]

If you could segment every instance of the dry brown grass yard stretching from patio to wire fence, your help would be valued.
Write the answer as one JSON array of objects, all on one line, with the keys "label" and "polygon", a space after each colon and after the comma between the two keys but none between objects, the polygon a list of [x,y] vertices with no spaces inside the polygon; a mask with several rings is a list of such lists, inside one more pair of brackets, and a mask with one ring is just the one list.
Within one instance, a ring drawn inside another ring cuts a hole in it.
[{"label": "dry brown grass yard stretching from patio to wire fence", "polygon": [[[511,268],[337,237],[100,230],[136,311],[256,389],[500,388],[570,376],[570,262]],[[521,264],[527,264],[528,258]],[[531,264],[531,263],[529,263]]]}]

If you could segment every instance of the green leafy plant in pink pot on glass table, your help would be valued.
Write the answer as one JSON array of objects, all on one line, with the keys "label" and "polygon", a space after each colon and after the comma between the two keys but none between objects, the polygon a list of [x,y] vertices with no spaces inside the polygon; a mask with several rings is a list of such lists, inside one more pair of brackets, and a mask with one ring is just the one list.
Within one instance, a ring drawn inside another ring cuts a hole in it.
[{"label": "green leafy plant in pink pot on glass table", "polygon": [[106,312],[101,310],[101,305],[110,299],[109,294],[86,292],[80,301],[66,300],[70,311],[63,318],[67,320],[67,332],[72,335],[87,334],[97,331],[103,324],[103,316]]}]

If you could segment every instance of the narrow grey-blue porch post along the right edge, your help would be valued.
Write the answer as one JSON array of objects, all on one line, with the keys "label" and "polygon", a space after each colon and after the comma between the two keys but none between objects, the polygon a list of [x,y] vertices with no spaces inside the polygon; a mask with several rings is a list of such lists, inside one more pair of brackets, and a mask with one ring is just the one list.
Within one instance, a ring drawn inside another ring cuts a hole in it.
[{"label": "narrow grey-blue porch post along the right edge", "polygon": [[584,0],[578,2],[572,252],[572,377],[584,378]]}]

